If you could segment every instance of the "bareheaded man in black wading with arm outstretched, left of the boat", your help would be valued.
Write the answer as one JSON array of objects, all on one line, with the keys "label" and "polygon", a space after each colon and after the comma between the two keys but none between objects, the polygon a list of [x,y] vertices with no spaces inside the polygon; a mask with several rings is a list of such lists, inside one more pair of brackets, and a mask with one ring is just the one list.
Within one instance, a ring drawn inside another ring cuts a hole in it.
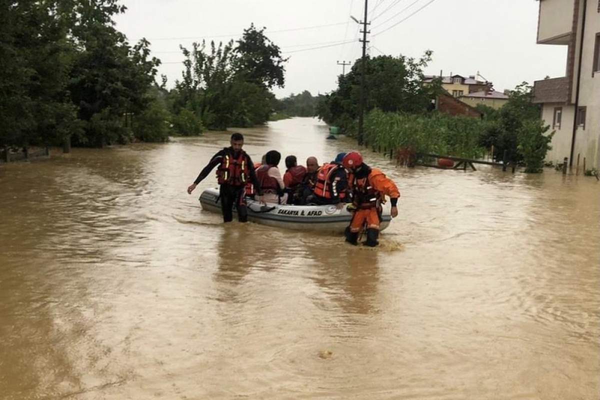
[{"label": "bareheaded man in black wading with arm outstretched, left of the boat", "polygon": [[214,167],[219,166],[217,180],[223,221],[231,222],[233,220],[233,206],[235,205],[238,209],[239,222],[246,222],[248,221],[248,210],[244,197],[246,183],[252,182],[254,187],[258,188],[259,196],[262,193],[260,193],[260,184],[254,172],[254,163],[250,156],[242,150],[244,136],[241,133],[234,133],[231,136],[230,143],[230,147],[224,148],[211,158],[211,161],[200,172],[196,181],[188,187],[188,194],[196,189],[196,186],[211,173]]}]

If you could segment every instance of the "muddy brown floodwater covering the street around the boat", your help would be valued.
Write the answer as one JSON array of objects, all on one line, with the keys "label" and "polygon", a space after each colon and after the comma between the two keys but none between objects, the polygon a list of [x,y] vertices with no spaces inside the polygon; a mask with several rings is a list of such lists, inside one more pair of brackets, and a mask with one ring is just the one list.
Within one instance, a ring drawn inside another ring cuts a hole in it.
[{"label": "muddy brown floodwater covering the street around the boat", "polygon": [[[298,118],[241,130],[326,161]],[[0,166],[0,399],[598,399],[595,178],[400,169],[377,249],[224,225],[228,133]]]}]

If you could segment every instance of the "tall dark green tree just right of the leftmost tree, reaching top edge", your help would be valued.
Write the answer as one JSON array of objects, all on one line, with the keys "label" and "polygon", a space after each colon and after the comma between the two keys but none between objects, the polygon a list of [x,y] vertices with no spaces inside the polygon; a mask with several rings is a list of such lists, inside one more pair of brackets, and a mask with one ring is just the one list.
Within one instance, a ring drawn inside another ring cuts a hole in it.
[{"label": "tall dark green tree just right of the leftmost tree, reaching top edge", "polygon": [[[76,43],[69,91],[79,105],[78,116],[88,122],[82,145],[126,143],[133,137],[128,115],[143,113],[151,103],[148,89],[160,61],[149,59],[149,42],[131,47],[115,29],[113,17],[127,8],[117,0],[74,3],[72,34]],[[103,126],[106,125],[106,126]]]}]

